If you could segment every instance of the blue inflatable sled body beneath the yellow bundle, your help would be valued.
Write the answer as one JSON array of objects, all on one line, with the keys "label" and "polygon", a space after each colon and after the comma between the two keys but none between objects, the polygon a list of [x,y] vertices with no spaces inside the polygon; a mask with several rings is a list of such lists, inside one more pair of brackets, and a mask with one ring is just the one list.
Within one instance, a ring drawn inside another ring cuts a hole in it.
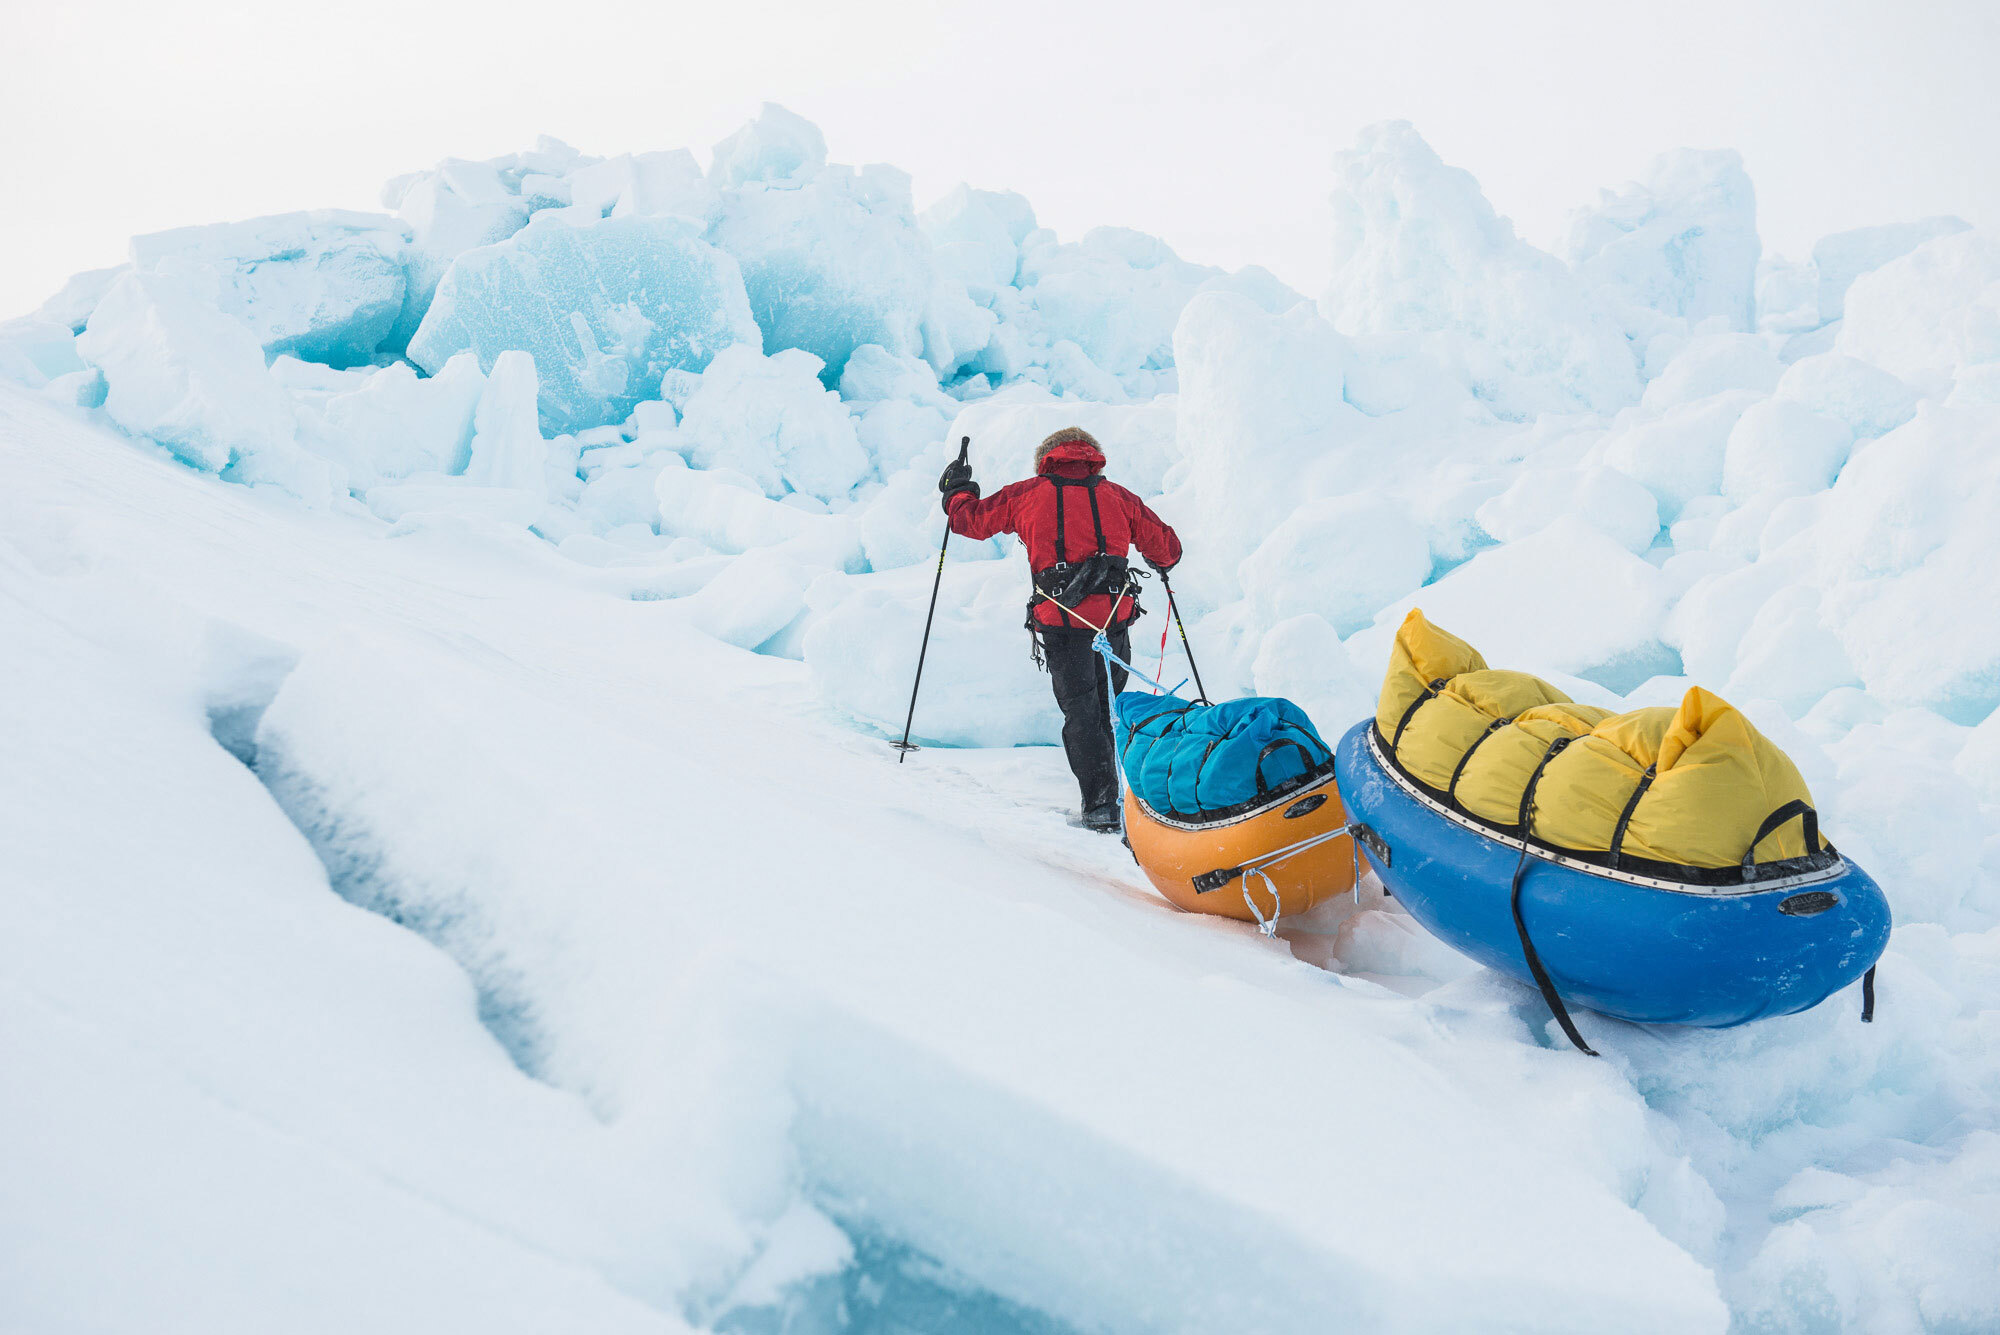
[{"label": "blue inflatable sled body beneath the yellow bundle", "polygon": [[1384,755],[1372,721],[1340,739],[1336,771],[1388,891],[1454,949],[1540,987],[1584,1051],[1564,1003],[1724,1027],[1804,1011],[1862,979],[1872,1015],[1888,901],[1832,847],[1804,869],[1746,863],[1734,883],[1694,885],[1524,847],[1452,811]]}]

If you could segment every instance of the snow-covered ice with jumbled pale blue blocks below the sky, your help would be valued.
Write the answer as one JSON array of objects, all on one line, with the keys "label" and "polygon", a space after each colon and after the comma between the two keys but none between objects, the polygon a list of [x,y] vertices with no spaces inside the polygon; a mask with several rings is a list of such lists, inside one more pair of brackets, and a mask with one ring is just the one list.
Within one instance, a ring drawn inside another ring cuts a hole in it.
[{"label": "snow-covered ice with jumbled pale blue blocks below the sky", "polygon": [[[1400,124],[1334,190],[1310,302],[766,108],[0,326],[0,1325],[2000,1327],[2000,236],[1776,260],[1676,152],[1552,256]],[[1420,604],[1750,709],[1876,1023],[1588,1061],[1372,891],[1174,913],[1022,745],[998,542],[888,763],[938,468],[1068,422],[1216,695],[1334,733]]]}]

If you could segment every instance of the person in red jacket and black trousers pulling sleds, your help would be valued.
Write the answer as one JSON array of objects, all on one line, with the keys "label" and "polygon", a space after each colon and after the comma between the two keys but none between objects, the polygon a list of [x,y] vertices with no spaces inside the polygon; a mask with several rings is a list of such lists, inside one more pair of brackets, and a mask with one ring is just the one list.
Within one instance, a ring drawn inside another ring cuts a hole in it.
[{"label": "person in red jacket and black trousers pulling sleds", "polygon": [[1028,548],[1034,598],[1028,630],[1036,662],[1046,662],[1062,707],[1062,749],[1084,799],[1084,825],[1120,829],[1118,759],[1112,739],[1112,693],[1126,683],[1090,648],[1106,632],[1118,658],[1132,658],[1130,626],[1140,616],[1126,578],[1126,554],[1160,572],[1180,560],[1180,538],[1138,496],[1104,480],[1104,450],[1080,426],[1068,426],[1034,452],[1034,478],[980,498],[972,466],[958,460],[938,478],[954,534],[1014,534]]}]

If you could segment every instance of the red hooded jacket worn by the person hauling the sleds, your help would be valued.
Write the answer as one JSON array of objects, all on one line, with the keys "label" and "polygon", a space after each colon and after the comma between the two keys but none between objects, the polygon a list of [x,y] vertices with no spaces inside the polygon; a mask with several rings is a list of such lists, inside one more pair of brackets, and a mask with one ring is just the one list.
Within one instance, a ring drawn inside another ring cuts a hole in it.
[{"label": "red hooded jacket worn by the person hauling the sleds", "polygon": [[[994,534],[1014,534],[1028,548],[1028,568],[1036,574],[1060,562],[1080,562],[1098,550],[1098,532],[1090,520],[1090,494],[1096,494],[1098,522],[1104,526],[1104,550],[1112,556],[1126,556],[1138,548],[1140,556],[1160,568],[1180,560],[1180,538],[1174,536],[1160,516],[1146,508],[1138,496],[1102,478],[1094,486],[1060,488],[1062,532],[1056,532],[1056,492],[1052,478],[1082,482],[1104,472],[1104,454],[1084,440],[1066,440],[1048,450],[1034,470],[1034,478],[1000,488],[988,498],[960,492],[946,502],[954,534],[966,538],[992,538]],[[1078,618],[1104,626],[1112,616],[1110,594],[1092,594],[1076,608]],[[1048,600],[1036,600],[1032,612],[1040,626],[1068,626],[1088,630],[1084,622],[1068,616]],[[1132,600],[1118,600],[1116,622],[1130,622]]]}]

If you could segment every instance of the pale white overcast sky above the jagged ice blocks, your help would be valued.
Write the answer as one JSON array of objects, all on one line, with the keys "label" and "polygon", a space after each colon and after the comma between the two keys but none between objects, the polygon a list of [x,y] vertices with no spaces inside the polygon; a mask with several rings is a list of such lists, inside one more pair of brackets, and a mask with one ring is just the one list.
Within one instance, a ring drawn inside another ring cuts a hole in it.
[{"label": "pale white overcast sky above the jagged ice blocks", "polygon": [[1044,226],[1326,278],[1330,154],[1414,120],[1542,246],[1662,148],[1738,148],[1766,250],[2000,224],[1996,0],[978,6],[0,0],[0,318],[124,238],[294,208],[554,134],[708,146],[764,100],[836,162],[960,180]]}]

